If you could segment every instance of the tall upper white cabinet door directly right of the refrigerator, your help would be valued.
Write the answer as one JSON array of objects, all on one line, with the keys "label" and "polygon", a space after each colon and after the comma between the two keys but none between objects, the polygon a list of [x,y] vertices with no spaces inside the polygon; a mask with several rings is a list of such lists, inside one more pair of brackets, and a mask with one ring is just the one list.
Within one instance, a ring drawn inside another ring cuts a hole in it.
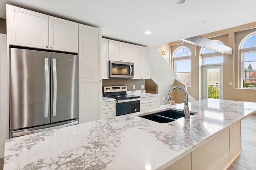
[{"label": "tall upper white cabinet door directly right of the refrigerator", "polygon": [[79,24],[81,79],[101,79],[101,29]]}]

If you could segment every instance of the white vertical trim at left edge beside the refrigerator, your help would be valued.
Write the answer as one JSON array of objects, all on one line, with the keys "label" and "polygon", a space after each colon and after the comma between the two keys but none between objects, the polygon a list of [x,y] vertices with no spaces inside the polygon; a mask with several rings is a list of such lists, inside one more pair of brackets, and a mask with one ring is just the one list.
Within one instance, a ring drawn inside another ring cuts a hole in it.
[{"label": "white vertical trim at left edge beside the refrigerator", "polygon": [[0,34],[0,158],[4,157],[4,143],[7,139],[7,43],[6,34]]}]

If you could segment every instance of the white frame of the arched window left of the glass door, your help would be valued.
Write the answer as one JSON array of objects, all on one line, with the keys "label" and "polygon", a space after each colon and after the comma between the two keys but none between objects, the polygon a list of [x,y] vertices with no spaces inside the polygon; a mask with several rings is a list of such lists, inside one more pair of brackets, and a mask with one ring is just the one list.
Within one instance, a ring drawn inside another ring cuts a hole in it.
[{"label": "white frame of the arched window left of the glass door", "polygon": [[[177,73],[190,73],[190,85],[186,85],[186,86],[192,86],[192,83],[191,83],[191,55],[187,55],[187,56],[182,56],[182,57],[175,57],[176,56],[176,53],[182,49],[182,48],[188,48],[189,51],[190,51],[190,54],[191,54],[191,49],[189,47],[186,47],[186,46],[180,46],[180,47],[177,47],[176,50],[174,51],[173,53],[173,57],[172,57],[172,60],[173,60],[173,66],[174,66],[174,72],[177,74]],[[182,61],[182,60],[190,60],[190,72],[176,72],[176,61]],[[180,80],[181,81],[181,80]],[[184,83],[184,82],[183,82]]]}]

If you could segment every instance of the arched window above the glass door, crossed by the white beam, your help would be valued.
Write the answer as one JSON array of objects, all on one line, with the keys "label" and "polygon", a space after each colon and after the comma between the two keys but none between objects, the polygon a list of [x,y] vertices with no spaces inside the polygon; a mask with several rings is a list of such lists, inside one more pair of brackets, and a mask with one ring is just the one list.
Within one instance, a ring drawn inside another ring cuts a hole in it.
[{"label": "arched window above the glass door, crossed by the white beam", "polygon": [[[216,41],[217,43],[224,45],[224,43],[219,40],[213,40],[213,41]],[[203,48],[201,52],[201,56],[203,59],[203,65],[223,64],[223,55],[216,51]]]}]

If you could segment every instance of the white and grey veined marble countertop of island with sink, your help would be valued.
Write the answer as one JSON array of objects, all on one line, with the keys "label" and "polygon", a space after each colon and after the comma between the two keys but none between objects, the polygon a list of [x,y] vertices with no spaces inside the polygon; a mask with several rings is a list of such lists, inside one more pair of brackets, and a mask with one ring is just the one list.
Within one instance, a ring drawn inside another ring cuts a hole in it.
[{"label": "white and grey veined marble countertop of island with sink", "polygon": [[[168,107],[182,109],[183,104]],[[137,116],[150,110],[8,139],[4,170],[164,169],[255,113],[256,103],[206,99],[189,107],[197,114],[177,119],[172,126]]]}]

